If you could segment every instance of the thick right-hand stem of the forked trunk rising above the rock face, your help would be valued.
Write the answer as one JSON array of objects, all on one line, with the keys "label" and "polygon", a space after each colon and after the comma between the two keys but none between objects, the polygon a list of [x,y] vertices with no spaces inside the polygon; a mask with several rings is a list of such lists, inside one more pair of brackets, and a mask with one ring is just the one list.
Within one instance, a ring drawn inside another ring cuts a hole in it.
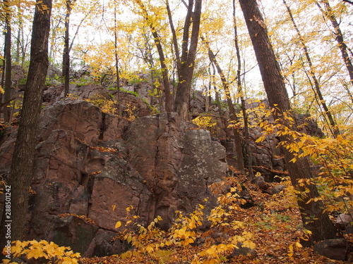
[{"label": "thick right-hand stem of the forked trunk rising above the rock face", "polygon": [[[191,82],[193,77],[193,69],[195,68],[198,34],[200,32],[201,22],[202,0],[195,0],[194,10],[193,2],[194,0],[189,0],[188,12],[185,18],[180,63],[178,67],[179,82],[174,100],[174,111],[179,113],[180,117],[184,120],[189,119]],[[192,30],[189,40],[191,18]]]}]

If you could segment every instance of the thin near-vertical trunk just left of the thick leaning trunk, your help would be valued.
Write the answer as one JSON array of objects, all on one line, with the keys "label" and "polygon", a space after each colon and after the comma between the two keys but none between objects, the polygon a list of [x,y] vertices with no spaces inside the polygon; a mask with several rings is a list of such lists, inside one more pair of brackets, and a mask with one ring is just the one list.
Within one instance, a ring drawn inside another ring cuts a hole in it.
[{"label": "thin near-vertical trunk just left of the thick leaning trunk", "polygon": [[238,42],[238,30],[237,30],[237,20],[235,14],[235,0],[233,0],[233,24],[234,24],[234,45],[237,51],[237,87],[238,87],[238,94],[240,96],[241,101],[241,113],[243,114],[244,119],[244,143],[245,143],[245,163],[248,167],[249,178],[250,180],[253,179],[253,157],[251,155],[251,149],[249,144],[249,124],[248,124],[248,114],[246,113],[245,108],[245,99],[243,94],[243,89],[241,88],[241,57],[240,57],[240,50],[239,50],[239,42]]}]

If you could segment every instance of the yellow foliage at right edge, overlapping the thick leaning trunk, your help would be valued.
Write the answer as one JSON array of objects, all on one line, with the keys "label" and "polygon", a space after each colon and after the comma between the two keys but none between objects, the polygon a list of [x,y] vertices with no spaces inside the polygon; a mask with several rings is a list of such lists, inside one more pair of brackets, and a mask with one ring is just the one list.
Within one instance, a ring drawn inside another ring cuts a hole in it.
[{"label": "yellow foliage at right edge, overlapping the thick leaning trunk", "polygon": [[[315,184],[320,196],[306,201],[306,203],[322,201],[325,211],[352,213],[353,201],[349,195],[353,194],[353,135],[352,128],[340,134],[337,138],[317,138],[308,134],[296,132],[284,125],[291,125],[293,119],[286,113],[282,115],[281,122],[261,122],[263,135],[256,140],[261,142],[268,134],[277,134],[287,137],[287,141],[280,142],[294,156],[291,162],[299,158],[309,158],[311,162],[320,168],[317,175],[311,179],[301,179],[297,186],[292,189],[292,194],[299,193],[306,196],[309,192],[308,186]],[[297,190],[295,190],[297,189]],[[301,191],[299,191],[301,189]]]}]

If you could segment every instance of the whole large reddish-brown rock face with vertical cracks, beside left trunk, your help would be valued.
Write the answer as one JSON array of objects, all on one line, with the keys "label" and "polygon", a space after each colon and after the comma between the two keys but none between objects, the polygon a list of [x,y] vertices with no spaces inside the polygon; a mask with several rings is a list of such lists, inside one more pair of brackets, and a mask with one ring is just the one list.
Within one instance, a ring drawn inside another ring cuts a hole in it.
[{"label": "whole large reddish-brown rock face with vertical cracks, beside left trunk", "polygon": [[[11,164],[2,154],[11,153],[14,134],[0,146],[0,173]],[[65,99],[44,109],[37,138],[26,239],[49,239],[84,256],[121,251],[112,237],[126,207],[142,224],[160,215],[168,228],[175,210],[190,213],[227,170],[225,148],[174,113],[129,122]]]}]

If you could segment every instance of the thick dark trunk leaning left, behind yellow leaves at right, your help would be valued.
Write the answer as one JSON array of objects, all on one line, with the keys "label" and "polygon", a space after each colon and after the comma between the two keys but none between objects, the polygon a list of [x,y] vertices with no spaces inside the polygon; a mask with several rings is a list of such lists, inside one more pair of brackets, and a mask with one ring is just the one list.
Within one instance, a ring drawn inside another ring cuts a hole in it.
[{"label": "thick dark trunk leaning left, behind yellow leaves at right", "polygon": [[[268,31],[263,22],[258,4],[256,0],[239,0],[239,3],[244,13],[246,26],[248,27],[251,37],[270,107],[279,109],[276,113],[276,119],[280,118],[280,122],[284,125],[289,125],[292,130],[297,130],[295,124],[288,124],[288,122],[282,118],[283,113],[291,114],[289,96],[280,73],[280,65],[276,61],[273,47],[270,44]],[[281,136],[280,140],[290,142],[293,139],[287,136]],[[301,213],[301,220],[303,221],[304,227],[312,232],[308,244],[312,244],[313,241],[334,238],[337,230],[333,222],[328,218],[328,213],[324,212],[325,206],[323,202],[321,200],[312,200],[309,202],[310,199],[315,199],[319,196],[316,185],[306,183],[303,187],[298,182],[301,179],[306,182],[306,179],[311,178],[308,161],[306,158],[298,158],[297,161],[293,163],[291,162],[292,158],[294,158],[293,153],[285,148],[284,152],[290,180],[294,188],[298,191],[297,203]]]}]

